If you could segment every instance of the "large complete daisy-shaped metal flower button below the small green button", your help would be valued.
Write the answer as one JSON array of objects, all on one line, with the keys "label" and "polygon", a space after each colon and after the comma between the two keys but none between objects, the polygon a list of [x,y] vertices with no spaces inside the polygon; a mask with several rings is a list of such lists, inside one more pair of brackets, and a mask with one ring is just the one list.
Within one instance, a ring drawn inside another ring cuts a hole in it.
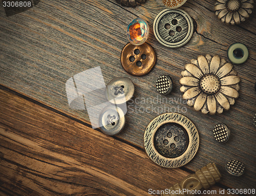
[{"label": "large complete daisy-shaped metal flower button below the small green button", "polygon": [[181,72],[180,91],[187,104],[194,105],[196,111],[204,114],[221,114],[223,109],[229,110],[238,98],[240,78],[233,70],[231,63],[218,55],[199,56],[197,60],[185,65]]}]

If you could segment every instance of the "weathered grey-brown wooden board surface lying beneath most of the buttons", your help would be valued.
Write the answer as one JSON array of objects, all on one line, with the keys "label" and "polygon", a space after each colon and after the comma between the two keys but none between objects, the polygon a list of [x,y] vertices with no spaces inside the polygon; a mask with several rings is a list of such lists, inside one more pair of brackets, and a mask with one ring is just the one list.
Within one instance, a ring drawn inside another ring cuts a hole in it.
[{"label": "weathered grey-brown wooden board surface lying beneath most of the buttons", "polygon": [[[191,40],[178,49],[160,45],[154,37],[154,18],[163,9],[161,1],[147,1],[136,8],[120,7],[115,0],[41,1],[26,12],[6,17],[0,7],[0,83],[72,117],[89,123],[87,112],[72,110],[67,101],[65,82],[75,74],[100,66],[105,83],[117,76],[135,83],[134,103],[130,102],[126,125],[117,137],[143,148],[147,124],[157,115],[178,112],[197,127],[200,147],[185,167],[196,170],[216,162],[223,174],[223,184],[236,188],[255,187],[255,8],[251,17],[238,26],[227,26],[214,12],[214,0],[188,0],[181,8],[194,19]],[[255,6],[254,6],[255,7]],[[147,40],[156,51],[157,63],[146,76],[127,74],[120,64],[120,53],[127,43],[125,29],[132,19],[144,17],[151,27]],[[184,65],[198,55],[218,54],[226,58],[233,42],[241,41],[249,49],[246,63],[234,66],[241,77],[240,96],[228,112],[209,116],[186,105],[179,91]],[[161,96],[155,81],[168,74],[174,82],[173,92]],[[147,108],[147,112],[145,111]],[[231,130],[226,144],[218,143],[212,129],[225,123]],[[245,163],[241,178],[228,176],[224,165],[231,159]]]}]

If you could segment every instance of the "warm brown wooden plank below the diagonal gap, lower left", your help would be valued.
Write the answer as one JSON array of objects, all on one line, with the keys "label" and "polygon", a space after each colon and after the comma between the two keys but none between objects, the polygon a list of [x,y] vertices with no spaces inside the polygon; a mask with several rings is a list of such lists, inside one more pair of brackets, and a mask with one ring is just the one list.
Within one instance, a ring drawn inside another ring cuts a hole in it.
[{"label": "warm brown wooden plank below the diagonal gap, lower left", "polygon": [[189,174],[9,92],[0,95],[1,195],[148,195]]}]

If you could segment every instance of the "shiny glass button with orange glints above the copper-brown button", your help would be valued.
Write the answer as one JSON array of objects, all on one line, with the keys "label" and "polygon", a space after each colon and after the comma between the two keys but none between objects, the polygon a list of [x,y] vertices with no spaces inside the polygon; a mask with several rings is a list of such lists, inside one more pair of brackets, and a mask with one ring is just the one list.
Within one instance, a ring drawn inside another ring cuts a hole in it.
[{"label": "shiny glass button with orange glints above the copper-brown button", "polygon": [[147,40],[150,34],[150,28],[146,20],[142,18],[135,18],[127,27],[127,38],[136,46],[142,45]]}]

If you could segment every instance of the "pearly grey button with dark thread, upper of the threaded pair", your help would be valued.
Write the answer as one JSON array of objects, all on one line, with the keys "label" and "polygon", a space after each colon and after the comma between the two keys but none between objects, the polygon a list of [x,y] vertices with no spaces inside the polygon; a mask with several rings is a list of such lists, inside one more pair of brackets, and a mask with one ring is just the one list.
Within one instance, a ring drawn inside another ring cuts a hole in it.
[{"label": "pearly grey button with dark thread, upper of the threaded pair", "polygon": [[129,101],[134,94],[132,80],[125,77],[118,77],[106,85],[105,96],[113,104],[122,104]]}]

